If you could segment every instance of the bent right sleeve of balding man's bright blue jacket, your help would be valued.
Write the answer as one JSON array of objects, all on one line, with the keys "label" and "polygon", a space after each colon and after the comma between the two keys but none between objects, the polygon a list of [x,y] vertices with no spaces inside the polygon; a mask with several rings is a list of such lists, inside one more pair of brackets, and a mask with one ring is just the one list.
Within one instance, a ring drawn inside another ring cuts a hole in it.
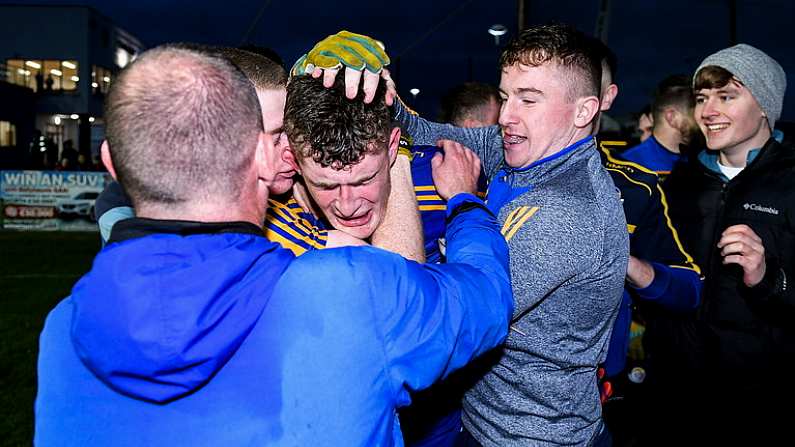
[{"label": "bent right sleeve of balding man's bright blue jacket", "polygon": [[390,374],[412,390],[499,345],[513,310],[508,249],[494,217],[468,194],[453,197],[449,210],[448,263],[404,261],[405,274],[376,323]]}]

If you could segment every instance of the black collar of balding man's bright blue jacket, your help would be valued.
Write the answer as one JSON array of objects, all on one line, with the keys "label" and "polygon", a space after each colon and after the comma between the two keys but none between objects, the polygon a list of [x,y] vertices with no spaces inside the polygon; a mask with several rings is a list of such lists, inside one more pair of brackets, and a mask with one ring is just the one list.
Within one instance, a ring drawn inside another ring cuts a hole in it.
[{"label": "black collar of balding man's bright blue jacket", "polygon": [[262,236],[262,228],[251,222],[194,222],[188,220],[158,220],[133,217],[116,222],[110,232],[108,243],[149,236],[152,234],[194,234],[244,233]]}]

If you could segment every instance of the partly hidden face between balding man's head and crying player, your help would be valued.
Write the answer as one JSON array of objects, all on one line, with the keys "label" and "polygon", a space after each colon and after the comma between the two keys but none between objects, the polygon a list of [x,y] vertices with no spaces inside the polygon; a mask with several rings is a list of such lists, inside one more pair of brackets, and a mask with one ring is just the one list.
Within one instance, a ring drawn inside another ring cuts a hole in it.
[{"label": "partly hidden face between balding man's head and crying player", "polygon": [[257,89],[257,98],[262,109],[262,125],[265,135],[272,142],[273,153],[269,154],[269,161],[273,165],[275,178],[271,185],[270,193],[284,194],[293,186],[295,168],[290,163],[290,145],[287,135],[284,134],[284,101],[287,91],[283,88],[272,90]]}]

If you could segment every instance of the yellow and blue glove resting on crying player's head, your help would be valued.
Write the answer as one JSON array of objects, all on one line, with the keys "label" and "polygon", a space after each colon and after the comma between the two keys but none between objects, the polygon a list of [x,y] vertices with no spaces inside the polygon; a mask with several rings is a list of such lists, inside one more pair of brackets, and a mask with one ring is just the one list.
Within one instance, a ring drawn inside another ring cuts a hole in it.
[{"label": "yellow and blue glove resting on crying player's head", "polygon": [[357,71],[380,73],[389,62],[384,44],[380,41],[362,34],[340,31],[321,40],[309,53],[301,56],[293,64],[290,76],[312,73],[315,68],[330,70],[343,65]]}]

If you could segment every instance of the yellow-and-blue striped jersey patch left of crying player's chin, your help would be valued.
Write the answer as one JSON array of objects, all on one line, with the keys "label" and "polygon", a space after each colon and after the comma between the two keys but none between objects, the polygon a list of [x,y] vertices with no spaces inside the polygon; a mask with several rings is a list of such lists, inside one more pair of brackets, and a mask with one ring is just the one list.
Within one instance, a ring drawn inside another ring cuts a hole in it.
[{"label": "yellow-and-blue striped jersey patch left of crying player's chin", "polygon": [[309,250],[324,248],[328,231],[323,223],[305,212],[292,197],[287,202],[268,200],[265,237],[300,256]]}]

